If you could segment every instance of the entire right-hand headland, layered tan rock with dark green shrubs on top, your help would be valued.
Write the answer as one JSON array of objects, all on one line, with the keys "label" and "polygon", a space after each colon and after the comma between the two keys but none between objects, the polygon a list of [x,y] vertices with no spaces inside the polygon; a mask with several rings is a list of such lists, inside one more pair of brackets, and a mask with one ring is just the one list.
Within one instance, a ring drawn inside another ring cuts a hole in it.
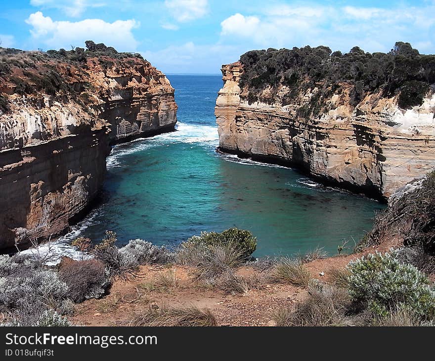
[{"label": "entire right-hand headland, layered tan rock with dark green shrubs on top", "polygon": [[253,50],[222,66],[219,148],[387,199],[435,167],[435,60],[324,46]]}]

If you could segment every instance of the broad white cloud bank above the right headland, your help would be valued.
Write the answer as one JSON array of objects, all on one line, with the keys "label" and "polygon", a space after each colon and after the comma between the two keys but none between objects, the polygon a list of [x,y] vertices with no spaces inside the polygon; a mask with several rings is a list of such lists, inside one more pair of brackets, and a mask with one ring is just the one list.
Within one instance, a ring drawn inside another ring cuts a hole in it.
[{"label": "broad white cloud bank above the right headland", "polygon": [[[236,13],[221,22],[221,44],[258,47],[327,45],[348,51],[389,51],[405,41],[431,51],[435,6],[394,8],[275,5],[258,13]],[[434,49],[432,48],[432,51]]]}]

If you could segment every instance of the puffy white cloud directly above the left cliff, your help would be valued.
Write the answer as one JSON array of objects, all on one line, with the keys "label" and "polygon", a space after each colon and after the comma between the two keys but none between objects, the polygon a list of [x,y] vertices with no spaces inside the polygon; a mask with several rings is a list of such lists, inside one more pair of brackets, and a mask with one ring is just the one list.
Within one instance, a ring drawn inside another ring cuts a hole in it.
[{"label": "puffy white cloud directly above the left cliff", "polygon": [[53,21],[37,11],[29,16],[26,23],[32,26],[33,38],[53,48],[84,46],[86,40],[105,43],[121,51],[135,51],[138,42],[132,29],[139,23],[134,19],[116,20],[113,23],[101,19],[86,19],[77,22]]}]

